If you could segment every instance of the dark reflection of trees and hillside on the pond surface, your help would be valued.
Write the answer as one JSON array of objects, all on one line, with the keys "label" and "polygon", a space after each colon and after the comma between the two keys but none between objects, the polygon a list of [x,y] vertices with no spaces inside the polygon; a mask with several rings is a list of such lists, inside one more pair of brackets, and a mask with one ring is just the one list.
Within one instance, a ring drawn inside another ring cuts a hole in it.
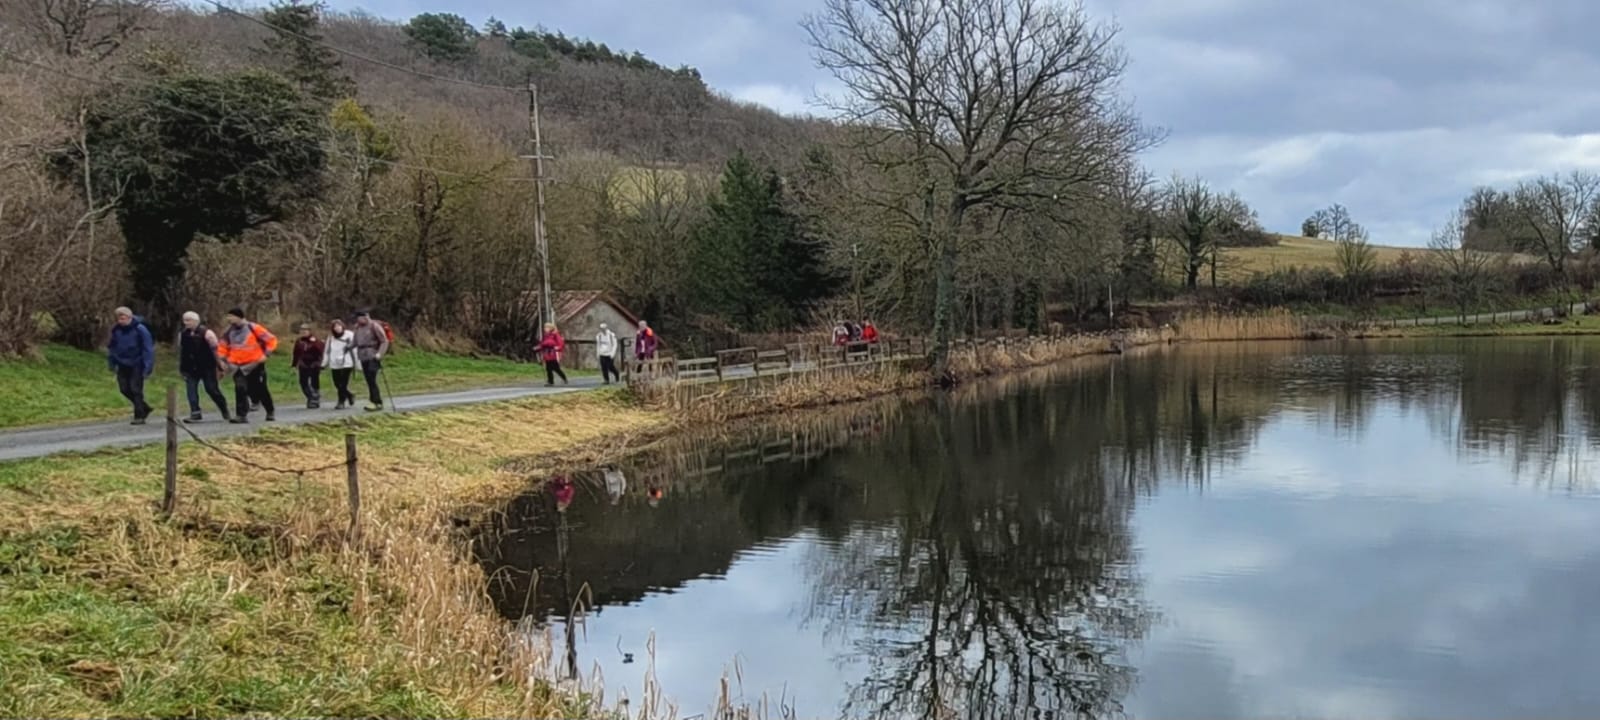
[{"label": "dark reflection of trees and hillside on the pond surface", "polygon": [[[496,586],[507,616],[563,618],[579,587],[598,606],[635,603],[810,531],[803,621],[842,661],[866,658],[848,715],[1115,717],[1138,680],[1126,651],[1157,619],[1130,530],[1157,485],[1205,491],[1283,414],[1358,435],[1381,411],[1555,483],[1563,453],[1600,437],[1595,355],[1216,344],[1083,360],[691,435],[622,462],[619,502],[584,474],[565,514],[518,499],[478,549],[490,573],[544,578]],[[1518,373],[1550,362],[1573,370]]]}]

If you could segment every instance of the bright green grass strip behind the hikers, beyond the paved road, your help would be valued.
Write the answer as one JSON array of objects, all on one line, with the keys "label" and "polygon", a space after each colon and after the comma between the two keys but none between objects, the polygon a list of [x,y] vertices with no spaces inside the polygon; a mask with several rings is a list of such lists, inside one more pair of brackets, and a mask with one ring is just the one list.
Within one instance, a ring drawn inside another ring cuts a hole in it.
[{"label": "bright green grass strip behind the hikers, beyond the paved road", "polygon": [[[283,338],[278,354],[267,362],[267,379],[278,403],[304,402],[299,378],[290,366],[293,339]],[[117,392],[117,378],[106,370],[106,355],[67,346],[45,346],[42,358],[0,360],[0,427],[45,426],[85,419],[107,419],[128,414],[128,402]],[[459,390],[466,387],[509,386],[542,381],[542,368],[504,358],[474,358],[402,347],[384,358],[389,376],[384,392],[413,394],[426,390]],[[571,371],[568,374],[592,374]],[[155,354],[155,374],[146,382],[150,405],[162,405],[168,382],[178,384],[182,403],[182,378],[171,347]],[[366,397],[360,373],[350,379],[355,395]],[[333,378],[323,371],[323,395],[333,394]],[[222,394],[232,402],[232,381],[222,381]],[[203,395],[203,394],[202,394]],[[214,413],[202,397],[202,408]]]}]

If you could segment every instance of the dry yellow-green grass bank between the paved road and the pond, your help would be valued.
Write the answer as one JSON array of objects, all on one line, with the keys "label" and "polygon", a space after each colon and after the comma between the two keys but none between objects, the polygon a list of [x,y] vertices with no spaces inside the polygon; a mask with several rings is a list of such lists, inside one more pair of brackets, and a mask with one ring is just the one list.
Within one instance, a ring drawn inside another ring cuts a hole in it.
[{"label": "dry yellow-green grass bank between the paved road and the pond", "polygon": [[[296,480],[184,445],[168,522],[158,448],[0,464],[0,717],[589,717],[494,677],[530,658],[506,654],[448,517],[526,486],[506,458],[664,426],[610,392],[352,421],[354,549],[339,470]],[[307,467],[341,456],[342,430],[226,445]]]}]

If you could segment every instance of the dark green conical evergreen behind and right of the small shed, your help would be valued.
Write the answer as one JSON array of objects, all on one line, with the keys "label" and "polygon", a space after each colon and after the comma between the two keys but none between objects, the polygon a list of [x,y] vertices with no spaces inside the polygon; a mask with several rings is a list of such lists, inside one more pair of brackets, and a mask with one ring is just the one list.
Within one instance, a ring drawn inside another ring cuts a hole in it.
[{"label": "dark green conical evergreen behind and right of the small shed", "polygon": [[747,330],[797,325],[835,285],[786,208],[778,173],[742,152],[728,160],[693,242],[696,309]]}]

